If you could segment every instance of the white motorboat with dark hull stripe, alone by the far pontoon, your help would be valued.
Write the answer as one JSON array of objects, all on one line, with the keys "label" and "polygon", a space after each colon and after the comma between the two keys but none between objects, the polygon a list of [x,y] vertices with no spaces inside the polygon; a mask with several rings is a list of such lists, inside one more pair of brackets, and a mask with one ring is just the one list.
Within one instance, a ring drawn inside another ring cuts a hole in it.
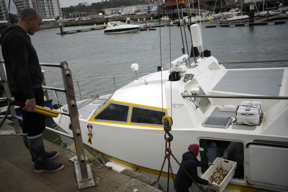
[{"label": "white motorboat with dark hull stripe, alone by the far pontoon", "polygon": [[127,24],[121,21],[113,21],[107,23],[107,27],[104,29],[104,34],[136,32],[139,28],[139,25]]}]

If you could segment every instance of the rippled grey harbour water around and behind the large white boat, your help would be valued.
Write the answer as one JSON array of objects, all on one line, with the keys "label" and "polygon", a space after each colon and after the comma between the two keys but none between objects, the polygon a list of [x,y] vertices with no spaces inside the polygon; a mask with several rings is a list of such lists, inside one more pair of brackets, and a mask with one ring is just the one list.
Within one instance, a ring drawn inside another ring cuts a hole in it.
[{"label": "rippled grey harbour water around and behind the large white boat", "polygon": [[[203,49],[211,50],[211,55],[218,61],[265,61],[287,59],[288,25],[242,26],[205,28],[202,22]],[[140,24],[143,26],[145,24]],[[82,29],[92,26],[81,26]],[[66,31],[79,27],[65,28]],[[183,29],[183,28],[182,28]],[[188,48],[191,50],[189,31],[186,28]],[[182,40],[177,26],[156,28],[155,31],[141,31],[125,34],[103,34],[103,30],[88,31],[70,35],[57,35],[60,29],[45,29],[31,36],[32,44],[37,50],[42,63],[57,63],[65,60],[72,72],[73,80],[101,76],[135,74],[132,63],[139,64],[137,74],[157,71],[157,66],[164,67],[182,55]],[[161,32],[161,33],[160,33]],[[184,36],[184,31],[183,36]],[[171,43],[170,43],[171,42]],[[161,43],[161,46],[160,46]],[[186,44],[185,50],[187,51]],[[201,47],[198,47],[199,52]],[[161,54],[160,54],[161,51]],[[161,56],[160,56],[161,55]],[[1,55],[1,58],[2,55]],[[193,58],[190,59],[191,63]],[[226,68],[287,67],[287,62],[224,64]],[[47,86],[62,82],[59,68],[42,67],[45,70]],[[116,78],[116,87],[131,82],[135,77]],[[74,84],[76,87],[77,84]],[[114,92],[113,78],[79,82],[81,95],[111,94]],[[61,87],[61,86],[58,86]],[[75,94],[79,93],[75,90]],[[56,99],[49,91],[49,96]],[[64,102],[64,95],[58,94]],[[64,103],[62,103],[64,104]],[[51,118],[47,126],[60,130]],[[68,147],[72,140],[58,134],[45,131],[44,138],[59,146]]]}]

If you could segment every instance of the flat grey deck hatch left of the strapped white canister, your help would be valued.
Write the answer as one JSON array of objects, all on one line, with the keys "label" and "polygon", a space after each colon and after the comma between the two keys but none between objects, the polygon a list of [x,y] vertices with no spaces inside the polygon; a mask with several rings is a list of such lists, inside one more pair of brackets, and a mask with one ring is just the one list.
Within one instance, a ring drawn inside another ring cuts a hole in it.
[{"label": "flat grey deck hatch left of the strapped white canister", "polygon": [[214,128],[228,128],[231,122],[231,117],[209,116],[204,120],[202,126]]}]

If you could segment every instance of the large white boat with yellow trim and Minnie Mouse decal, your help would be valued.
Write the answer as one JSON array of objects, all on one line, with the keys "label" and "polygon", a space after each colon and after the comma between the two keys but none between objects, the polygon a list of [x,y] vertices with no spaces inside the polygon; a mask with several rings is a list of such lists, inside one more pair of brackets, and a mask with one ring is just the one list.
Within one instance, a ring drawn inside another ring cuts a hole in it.
[{"label": "large white boat with yellow trim and Minnie Mouse decal", "polygon": [[[173,124],[167,137],[173,135],[170,149],[178,161],[191,143],[205,149],[199,160],[213,162],[227,143],[238,142],[244,176],[232,178],[225,190],[287,191],[288,68],[226,69],[213,56],[198,58],[190,68],[183,64],[187,58],[184,54],[163,66],[166,70],[135,78],[113,95],[78,101],[84,145],[105,161],[157,179],[165,152],[162,117],[169,115]],[[53,119],[72,135],[70,117]],[[171,161],[171,166],[177,173],[179,165]],[[204,172],[198,168],[199,176]],[[167,173],[159,182],[167,186]],[[170,179],[173,191],[172,186]]]}]

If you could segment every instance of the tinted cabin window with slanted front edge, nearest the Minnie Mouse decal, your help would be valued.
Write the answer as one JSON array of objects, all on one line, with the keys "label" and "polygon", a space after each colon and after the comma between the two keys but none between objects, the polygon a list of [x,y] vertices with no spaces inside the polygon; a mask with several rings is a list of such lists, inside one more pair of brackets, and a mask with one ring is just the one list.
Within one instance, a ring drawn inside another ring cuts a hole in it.
[{"label": "tinted cabin window with slanted front edge, nearest the Minnie Mouse decal", "polygon": [[127,104],[108,104],[94,120],[112,121],[112,122],[128,122],[129,105]]}]

